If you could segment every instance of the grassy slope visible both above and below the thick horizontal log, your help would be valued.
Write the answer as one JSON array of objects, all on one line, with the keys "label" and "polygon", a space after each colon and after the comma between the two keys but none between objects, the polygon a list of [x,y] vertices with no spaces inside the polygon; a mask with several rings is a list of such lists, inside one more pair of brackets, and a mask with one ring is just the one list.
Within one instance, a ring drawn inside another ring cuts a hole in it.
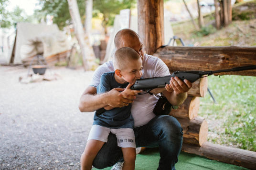
[{"label": "grassy slope visible both above and below the thick horizontal log", "polygon": [[[192,21],[173,23],[174,35],[192,46],[256,46],[256,0],[248,3],[247,12],[240,12],[239,5],[235,5],[235,20],[221,30],[214,29],[214,17],[210,14],[204,17],[206,26],[200,31],[195,30]],[[179,41],[177,44],[181,45]],[[199,116],[209,124],[208,141],[256,151],[256,77],[210,76],[208,87],[216,103],[207,93],[200,98],[199,109]]]}]

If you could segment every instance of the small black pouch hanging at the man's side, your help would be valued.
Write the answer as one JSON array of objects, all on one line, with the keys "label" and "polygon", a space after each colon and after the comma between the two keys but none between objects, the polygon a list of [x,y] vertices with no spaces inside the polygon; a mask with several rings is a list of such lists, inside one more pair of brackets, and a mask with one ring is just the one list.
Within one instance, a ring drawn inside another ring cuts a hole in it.
[{"label": "small black pouch hanging at the man's side", "polygon": [[157,101],[157,104],[153,110],[153,113],[156,116],[159,115],[169,115],[171,112],[172,105],[169,103],[169,101],[164,97],[164,95],[161,93],[161,96],[156,95],[159,97],[159,100]]}]

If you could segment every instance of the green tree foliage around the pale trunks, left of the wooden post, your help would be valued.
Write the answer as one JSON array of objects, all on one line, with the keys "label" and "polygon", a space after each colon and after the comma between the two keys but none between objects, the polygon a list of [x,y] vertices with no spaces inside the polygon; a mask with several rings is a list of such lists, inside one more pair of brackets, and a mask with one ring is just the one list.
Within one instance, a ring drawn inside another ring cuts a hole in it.
[{"label": "green tree foliage around the pale trunks, left of the wooden post", "polygon": [[[113,25],[115,15],[122,9],[131,8],[136,0],[93,0],[93,16],[98,17],[99,13],[103,14],[103,27]],[[39,0],[42,10],[37,13],[42,13],[44,18],[46,15],[53,16],[53,23],[56,23],[60,29],[70,24],[71,16],[68,10],[67,0]],[[79,13],[82,18],[82,23],[85,19],[85,0],[77,0]]]}]

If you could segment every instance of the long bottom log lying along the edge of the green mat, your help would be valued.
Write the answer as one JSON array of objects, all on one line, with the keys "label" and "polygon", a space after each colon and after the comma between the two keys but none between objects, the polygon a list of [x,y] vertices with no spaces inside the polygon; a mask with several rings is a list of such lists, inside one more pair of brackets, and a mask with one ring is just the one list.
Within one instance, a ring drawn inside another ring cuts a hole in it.
[{"label": "long bottom log lying along the edge of the green mat", "polygon": [[204,142],[201,147],[183,143],[181,150],[212,160],[256,170],[256,152],[253,151],[216,145],[210,142]]}]

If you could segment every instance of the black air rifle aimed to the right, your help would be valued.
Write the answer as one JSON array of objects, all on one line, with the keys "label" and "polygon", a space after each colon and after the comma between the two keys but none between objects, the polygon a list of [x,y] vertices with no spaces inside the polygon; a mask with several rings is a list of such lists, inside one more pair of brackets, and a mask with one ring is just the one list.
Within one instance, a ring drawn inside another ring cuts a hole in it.
[{"label": "black air rifle aimed to the right", "polygon": [[198,80],[200,78],[210,76],[214,73],[254,70],[254,69],[256,69],[256,65],[245,66],[245,67],[235,67],[232,69],[215,70],[215,71],[174,71],[171,74],[171,76],[138,79],[131,86],[130,89],[143,90],[146,92],[140,93],[140,94],[146,94],[153,89],[163,88],[166,86],[166,84],[170,84],[171,77],[179,77],[182,81],[186,79],[186,80],[189,80],[190,82],[195,82],[196,80]]}]

